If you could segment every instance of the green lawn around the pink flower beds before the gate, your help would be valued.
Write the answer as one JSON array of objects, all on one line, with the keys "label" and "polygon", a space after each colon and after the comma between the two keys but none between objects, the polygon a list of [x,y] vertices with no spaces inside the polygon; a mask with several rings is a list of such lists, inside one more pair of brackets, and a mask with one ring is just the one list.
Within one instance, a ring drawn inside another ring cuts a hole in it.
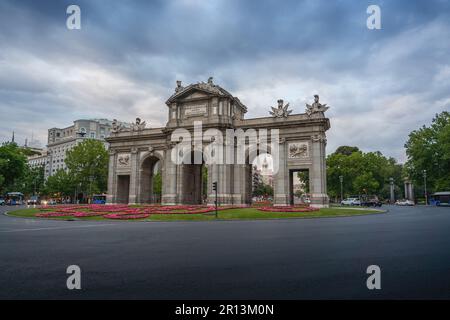
[{"label": "green lawn around the pink flower beds before the gate", "polygon": [[[9,215],[16,217],[34,217],[36,213],[40,213],[40,209],[21,209],[9,212]],[[256,208],[236,208],[219,211],[218,219],[221,220],[255,220],[255,219],[283,219],[283,218],[322,218],[322,217],[339,217],[339,216],[356,216],[363,214],[374,214],[383,212],[381,210],[371,209],[354,209],[354,208],[324,208],[314,212],[263,212]],[[58,219],[58,220],[107,220],[116,221],[114,219],[106,219],[103,217],[53,217],[40,219]],[[214,212],[207,214],[153,214],[146,219],[138,220],[121,220],[121,221],[207,221],[215,220]]]}]

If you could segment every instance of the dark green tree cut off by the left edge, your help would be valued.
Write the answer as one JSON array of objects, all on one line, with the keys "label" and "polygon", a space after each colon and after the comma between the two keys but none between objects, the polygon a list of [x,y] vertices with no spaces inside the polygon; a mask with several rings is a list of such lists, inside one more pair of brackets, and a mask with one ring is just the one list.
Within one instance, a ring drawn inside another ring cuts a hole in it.
[{"label": "dark green tree cut off by the left edge", "polygon": [[27,159],[14,142],[5,142],[0,147],[0,189],[5,191],[21,179]]}]

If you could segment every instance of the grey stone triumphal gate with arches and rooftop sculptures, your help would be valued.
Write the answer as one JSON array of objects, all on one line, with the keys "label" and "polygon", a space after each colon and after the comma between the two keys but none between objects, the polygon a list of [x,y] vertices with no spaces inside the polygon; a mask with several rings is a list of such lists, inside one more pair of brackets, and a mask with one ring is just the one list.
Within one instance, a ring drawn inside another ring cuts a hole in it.
[{"label": "grey stone triumphal gate with arches and rooftop sculptures", "polygon": [[[266,129],[267,152],[278,157],[278,168],[273,173],[274,205],[286,206],[294,201],[294,174],[307,171],[311,205],[328,206],[326,188],[325,146],[329,119],[328,109],[314,96],[314,103],[306,105],[306,112],[291,114],[289,104],[272,107],[269,117],[244,119],[245,105],[228,91],[208,81],[182,86],[177,81],[174,94],[167,100],[169,120],[163,128],[146,128],[138,118],[129,127],[113,123],[113,131],[107,141],[110,144],[108,203],[146,204],[161,202],[175,204],[213,204],[215,192],[212,183],[217,182],[218,202],[221,205],[250,204],[252,199],[252,163],[261,153],[250,143],[244,146],[244,163],[209,163],[207,143],[193,145],[185,154],[176,149],[184,139],[174,133],[180,129],[194,135],[195,124],[201,123],[203,132],[215,129],[223,133],[230,129],[248,133],[251,129]],[[276,139],[271,131],[278,129]],[[261,136],[256,140],[256,147]],[[203,137],[202,139],[205,139]],[[207,138],[213,141],[214,139]],[[276,140],[276,141],[275,141]],[[233,139],[231,150],[242,147]],[[245,142],[249,139],[245,138]],[[194,142],[193,142],[194,144]],[[277,148],[274,148],[277,144]],[[177,146],[178,145],[178,146]],[[252,149],[253,148],[253,149]],[[276,149],[276,153],[272,149]],[[237,153],[237,151],[233,151]],[[174,161],[182,156],[184,163]],[[194,159],[195,158],[195,159]],[[191,161],[196,160],[196,161]],[[202,177],[206,166],[207,186]],[[161,197],[155,195],[153,180],[155,168],[159,168],[162,180]],[[205,188],[205,189],[204,189]],[[203,196],[206,191],[206,198]]]}]

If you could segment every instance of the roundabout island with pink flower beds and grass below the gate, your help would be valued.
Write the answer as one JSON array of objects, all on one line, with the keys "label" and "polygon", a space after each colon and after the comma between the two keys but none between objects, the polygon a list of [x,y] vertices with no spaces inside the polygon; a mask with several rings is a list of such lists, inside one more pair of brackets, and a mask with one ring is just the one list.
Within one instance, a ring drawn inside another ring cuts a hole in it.
[{"label": "roundabout island with pink flower beds and grass below the gate", "polygon": [[214,206],[203,205],[60,205],[29,207],[8,215],[62,220],[205,221],[286,218],[325,218],[383,213],[369,208],[313,208],[310,206]]}]

